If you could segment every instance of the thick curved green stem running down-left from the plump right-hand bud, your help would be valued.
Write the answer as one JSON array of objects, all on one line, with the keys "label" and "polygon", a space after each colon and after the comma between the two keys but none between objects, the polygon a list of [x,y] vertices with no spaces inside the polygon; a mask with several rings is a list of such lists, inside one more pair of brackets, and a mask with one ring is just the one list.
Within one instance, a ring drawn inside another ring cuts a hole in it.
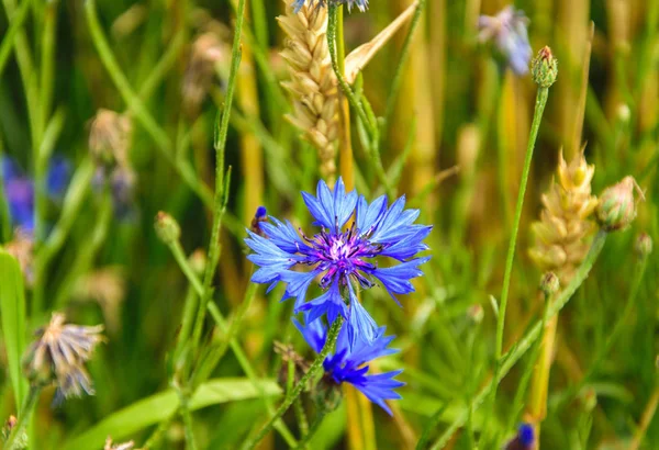
[{"label": "thick curved green stem running down-left from the plump right-hand bud", "polygon": [[[577,270],[574,278],[570,282],[570,284],[568,284],[566,289],[561,291],[561,293],[556,297],[556,300],[549,305],[545,320],[550,320],[554,316],[556,316],[570,301],[570,299],[572,297],[574,292],[577,292],[579,286],[585,281],[591,269],[593,268],[593,265],[597,260],[597,257],[602,252],[602,248],[604,248],[607,235],[608,234],[604,230],[600,230],[597,233],[597,235],[593,239],[593,243],[585,259]],[[431,447],[433,450],[443,449],[448,443],[451,436],[466,424],[469,414],[468,408],[471,407],[476,412],[482,405],[488,395],[491,395],[491,393],[494,391],[494,386],[496,386],[503,380],[503,378],[510,372],[510,370],[515,365],[515,363],[520,361],[520,359],[530,349],[534,342],[536,342],[540,338],[541,333],[543,322],[539,320],[533,326],[533,328],[530,328],[530,330],[528,330],[528,333],[520,341],[516,342],[516,345],[509,352],[506,352],[501,358],[502,363],[500,370],[485,384],[485,386],[480,391],[480,393],[477,396],[474,396],[474,398],[471,402],[471,405],[467,406],[460,414],[458,414],[457,417],[450,423],[448,428],[444,430],[444,432]],[[437,426],[442,418],[442,415],[437,414],[434,416],[434,418],[435,420],[433,420],[428,425],[428,428],[431,429]],[[428,429],[424,431],[424,435],[426,435],[426,431],[428,431]],[[417,446],[417,448],[422,447]]]}]

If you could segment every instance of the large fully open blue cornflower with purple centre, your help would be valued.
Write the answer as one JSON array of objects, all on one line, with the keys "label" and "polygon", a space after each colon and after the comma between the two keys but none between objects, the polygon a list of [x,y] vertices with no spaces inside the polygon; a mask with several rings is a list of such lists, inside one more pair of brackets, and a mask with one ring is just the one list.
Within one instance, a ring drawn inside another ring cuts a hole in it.
[{"label": "large fully open blue cornflower with purple centre", "polygon": [[[369,204],[356,191],[346,193],[340,178],[334,192],[321,181],[316,196],[302,192],[302,198],[321,232],[308,237],[299,234],[290,222],[282,223],[272,216],[269,216],[272,223],[259,223],[264,236],[248,232],[249,237],[245,239],[254,250],[247,258],[259,266],[252,281],[271,283],[269,290],[282,281],[287,283],[282,300],[295,297],[295,314],[306,312],[309,322],[326,315],[328,323],[342,315],[348,320],[350,342],[355,342],[356,336],[372,341],[377,325],[359,303],[353,282],[368,289],[379,280],[399,303],[394,294],[414,292],[410,280],[423,274],[418,266],[429,257],[415,256],[428,248],[423,239],[432,226],[413,223],[420,213],[404,210],[404,195],[389,209],[386,195]],[[355,222],[344,229],[351,216]],[[380,268],[378,257],[400,263]],[[311,270],[291,270],[303,266]],[[306,291],[317,277],[325,292],[306,302]]]}]

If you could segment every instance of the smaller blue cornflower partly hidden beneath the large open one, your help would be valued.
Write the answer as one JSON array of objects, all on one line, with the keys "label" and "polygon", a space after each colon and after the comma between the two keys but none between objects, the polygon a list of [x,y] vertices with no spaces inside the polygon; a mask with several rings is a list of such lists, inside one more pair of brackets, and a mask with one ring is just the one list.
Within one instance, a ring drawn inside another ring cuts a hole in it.
[{"label": "smaller blue cornflower partly hidden beneath the large open one", "polygon": [[[313,351],[320,353],[327,339],[327,327],[323,320],[308,322],[304,326],[293,318],[293,323]],[[388,348],[394,336],[384,336],[386,327],[380,327],[371,342],[358,338],[357,342],[350,346],[348,328],[346,325],[342,327],[334,353],[330,353],[323,361],[325,380],[331,380],[336,384],[354,385],[368,400],[392,415],[384,401],[401,398],[394,389],[404,386],[405,383],[394,380],[394,376],[402,370],[367,375],[369,367],[366,364],[377,358],[399,352],[398,349]]]}]

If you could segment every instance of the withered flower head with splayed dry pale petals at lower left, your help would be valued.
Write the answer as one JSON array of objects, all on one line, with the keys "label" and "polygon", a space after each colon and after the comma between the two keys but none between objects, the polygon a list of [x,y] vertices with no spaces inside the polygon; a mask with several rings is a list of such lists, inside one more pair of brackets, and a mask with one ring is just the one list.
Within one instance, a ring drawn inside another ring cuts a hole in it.
[{"label": "withered flower head with splayed dry pale petals at lower left", "polygon": [[51,323],[36,331],[36,340],[23,359],[27,378],[37,384],[55,382],[55,403],[82,393],[93,395],[92,382],[85,368],[99,342],[102,325],[65,325],[65,316],[53,313]]}]

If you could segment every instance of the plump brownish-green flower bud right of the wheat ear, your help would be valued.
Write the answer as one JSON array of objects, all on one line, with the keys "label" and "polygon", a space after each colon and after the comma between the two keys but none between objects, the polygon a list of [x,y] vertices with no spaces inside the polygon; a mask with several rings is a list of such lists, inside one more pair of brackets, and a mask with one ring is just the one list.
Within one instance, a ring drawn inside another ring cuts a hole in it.
[{"label": "plump brownish-green flower bud right of the wheat ear", "polygon": [[636,217],[634,188],[636,180],[625,177],[621,182],[608,187],[600,195],[597,221],[606,232],[625,229]]}]

